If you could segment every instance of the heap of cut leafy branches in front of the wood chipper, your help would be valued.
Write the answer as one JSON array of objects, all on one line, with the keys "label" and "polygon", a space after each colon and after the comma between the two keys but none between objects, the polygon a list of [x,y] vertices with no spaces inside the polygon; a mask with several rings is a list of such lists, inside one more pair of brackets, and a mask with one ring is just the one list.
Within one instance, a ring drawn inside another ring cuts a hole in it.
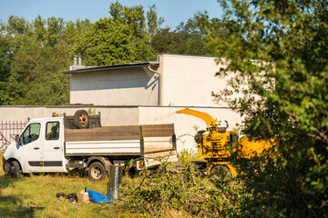
[{"label": "heap of cut leafy branches in front of the wood chipper", "polygon": [[239,179],[213,183],[193,167],[185,173],[168,172],[167,167],[162,163],[156,172],[142,171],[138,175],[141,183],[125,184],[123,192],[133,212],[152,216],[167,216],[172,211],[197,217],[241,216],[246,193]]}]

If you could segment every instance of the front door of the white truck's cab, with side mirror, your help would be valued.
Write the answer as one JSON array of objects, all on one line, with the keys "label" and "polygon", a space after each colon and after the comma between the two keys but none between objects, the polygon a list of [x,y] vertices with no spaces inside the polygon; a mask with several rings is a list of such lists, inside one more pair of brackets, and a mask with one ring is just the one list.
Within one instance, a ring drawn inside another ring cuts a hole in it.
[{"label": "front door of the white truck's cab, with side mirror", "polygon": [[29,124],[23,134],[21,146],[17,146],[17,159],[24,173],[42,172],[42,140],[40,137],[41,124]]}]

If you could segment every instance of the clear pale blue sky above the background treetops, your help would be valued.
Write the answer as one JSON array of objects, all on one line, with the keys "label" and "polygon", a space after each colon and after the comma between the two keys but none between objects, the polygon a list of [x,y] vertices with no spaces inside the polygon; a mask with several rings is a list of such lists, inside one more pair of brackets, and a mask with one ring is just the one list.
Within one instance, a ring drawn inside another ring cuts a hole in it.
[{"label": "clear pale blue sky above the background treetops", "polygon": [[[109,5],[116,0],[0,0],[0,21],[6,22],[10,15],[33,21],[37,15],[46,19],[51,16],[62,17],[65,21],[108,17]],[[217,0],[118,0],[121,5],[143,5],[148,11],[156,5],[159,17],[164,18],[162,27],[175,29],[180,22],[186,23],[195,14],[208,12],[210,18],[220,17],[222,9]]]}]

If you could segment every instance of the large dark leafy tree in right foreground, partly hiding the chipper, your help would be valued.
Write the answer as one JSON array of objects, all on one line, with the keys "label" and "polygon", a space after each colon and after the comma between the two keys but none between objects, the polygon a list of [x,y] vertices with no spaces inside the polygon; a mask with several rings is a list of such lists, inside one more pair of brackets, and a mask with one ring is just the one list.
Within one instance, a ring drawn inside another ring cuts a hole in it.
[{"label": "large dark leafy tree in right foreground, partly hiding the chipper", "polygon": [[[328,213],[328,4],[326,1],[225,1],[223,38],[200,15],[208,42],[235,73],[218,99],[245,116],[243,134],[273,138],[266,170],[246,171],[245,216],[324,217]],[[231,94],[242,94],[235,98]],[[222,97],[224,96],[224,97]],[[256,160],[254,160],[256,161]],[[261,164],[259,164],[261,165]]]}]

